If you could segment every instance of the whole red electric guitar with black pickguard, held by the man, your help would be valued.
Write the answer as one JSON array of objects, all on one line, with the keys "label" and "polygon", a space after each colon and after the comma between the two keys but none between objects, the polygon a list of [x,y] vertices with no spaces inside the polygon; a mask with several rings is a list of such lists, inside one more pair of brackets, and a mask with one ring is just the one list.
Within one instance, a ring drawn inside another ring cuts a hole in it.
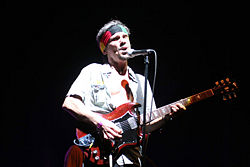
[{"label": "whole red electric guitar with black pickguard, held by the man", "polygon": [[[174,103],[181,103],[184,106],[189,106],[216,94],[223,94],[223,100],[236,97],[236,90],[238,87],[235,82],[229,81],[229,78],[225,81],[221,80],[220,82],[216,82],[215,84],[216,86],[212,89],[208,89]],[[171,118],[170,113],[172,110],[170,106],[174,103],[160,107],[152,111],[151,114],[147,113],[146,122],[149,123],[159,118]],[[141,138],[141,128],[139,127],[143,122],[142,115],[139,115],[137,112],[138,107],[140,107],[138,103],[125,103],[109,114],[100,114],[103,118],[112,121],[123,130],[121,139],[111,141],[103,140],[100,142],[94,135],[76,129],[78,140],[75,140],[75,143],[85,147],[85,158],[98,165],[106,164],[108,163],[109,154],[119,155],[120,150],[124,147],[138,144]]]}]

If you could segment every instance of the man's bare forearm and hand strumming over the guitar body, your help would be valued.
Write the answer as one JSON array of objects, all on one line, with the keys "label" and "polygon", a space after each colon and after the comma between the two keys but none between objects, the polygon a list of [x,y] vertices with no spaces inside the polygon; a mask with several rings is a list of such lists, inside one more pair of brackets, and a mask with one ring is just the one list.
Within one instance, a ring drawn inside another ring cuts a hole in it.
[{"label": "man's bare forearm and hand strumming over the guitar body", "polygon": [[120,128],[118,128],[113,122],[106,120],[99,114],[89,110],[83,102],[76,97],[67,96],[63,102],[62,108],[83,124],[96,127],[101,125],[105,139],[122,137],[122,130]]}]

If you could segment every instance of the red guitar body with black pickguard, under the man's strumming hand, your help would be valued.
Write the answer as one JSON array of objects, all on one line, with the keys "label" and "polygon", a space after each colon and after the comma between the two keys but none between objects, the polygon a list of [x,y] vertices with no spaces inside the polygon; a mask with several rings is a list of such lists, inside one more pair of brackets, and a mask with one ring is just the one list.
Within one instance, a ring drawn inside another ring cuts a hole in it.
[{"label": "red guitar body with black pickguard, under the man's strumming hand", "polygon": [[[137,145],[140,136],[139,117],[136,109],[138,103],[125,103],[108,114],[100,114],[103,118],[112,121],[122,129],[122,138],[116,140],[104,140],[102,137],[95,138],[80,129],[76,129],[78,145],[84,147],[84,158],[92,163],[102,165],[108,163],[108,156],[118,156],[126,146]],[[102,134],[101,134],[102,135]]]}]

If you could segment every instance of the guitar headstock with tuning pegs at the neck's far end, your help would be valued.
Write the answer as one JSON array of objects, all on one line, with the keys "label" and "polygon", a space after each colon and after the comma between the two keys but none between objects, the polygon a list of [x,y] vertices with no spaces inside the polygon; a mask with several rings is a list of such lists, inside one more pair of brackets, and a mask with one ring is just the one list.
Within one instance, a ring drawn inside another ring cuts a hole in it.
[{"label": "guitar headstock with tuning pegs at the neck's far end", "polygon": [[231,82],[229,78],[226,78],[225,80],[215,82],[213,91],[216,94],[222,94],[223,100],[231,100],[237,97],[238,86],[236,82]]}]

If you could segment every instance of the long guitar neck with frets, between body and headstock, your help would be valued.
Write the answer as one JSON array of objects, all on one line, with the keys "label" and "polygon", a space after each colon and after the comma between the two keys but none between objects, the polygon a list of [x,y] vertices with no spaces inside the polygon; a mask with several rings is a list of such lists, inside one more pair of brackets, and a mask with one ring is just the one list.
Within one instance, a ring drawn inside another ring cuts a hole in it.
[{"label": "long guitar neck with frets, between body and headstock", "polygon": [[[214,95],[213,89],[208,89],[208,90],[205,90],[205,91],[200,92],[198,94],[186,97],[186,98],[181,99],[179,101],[176,101],[174,103],[160,107],[160,108],[152,111],[152,113],[148,112],[146,114],[146,123],[149,123],[157,118],[163,118],[163,117],[167,116],[169,113],[172,112],[171,105],[173,105],[173,104],[181,103],[182,105],[187,107],[191,104],[194,104],[194,103],[199,102],[201,100],[205,100],[209,97],[212,97],[213,95]],[[142,124],[143,115],[141,115],[140,117],[141,117],[141,124]]]}]

